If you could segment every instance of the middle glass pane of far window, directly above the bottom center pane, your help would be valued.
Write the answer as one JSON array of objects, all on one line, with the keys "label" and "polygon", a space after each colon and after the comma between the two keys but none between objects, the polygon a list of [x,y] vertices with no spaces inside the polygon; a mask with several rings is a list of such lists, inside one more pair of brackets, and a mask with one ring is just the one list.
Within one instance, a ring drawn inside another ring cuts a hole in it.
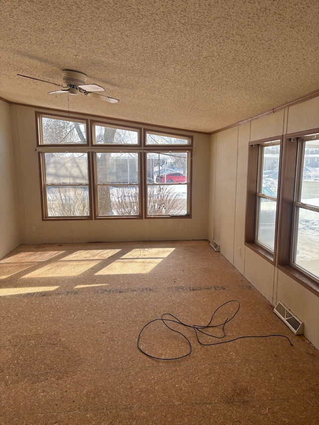
[{"label": "middle glass pane of far window, directly above the bottom center pane", "polygon": [[97,182],[136,184],[139,182],[139,156],[136,152],[98,152]]}]

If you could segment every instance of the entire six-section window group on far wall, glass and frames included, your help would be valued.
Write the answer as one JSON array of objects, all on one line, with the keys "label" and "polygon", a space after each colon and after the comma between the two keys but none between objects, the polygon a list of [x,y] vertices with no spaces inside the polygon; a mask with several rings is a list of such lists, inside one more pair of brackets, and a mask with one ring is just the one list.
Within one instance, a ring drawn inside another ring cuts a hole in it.
[{"label": "entire six-section window group on far wall, glass and frames included", "polygon": [[191,137],[36,117],[43,220],[190,217]]}]

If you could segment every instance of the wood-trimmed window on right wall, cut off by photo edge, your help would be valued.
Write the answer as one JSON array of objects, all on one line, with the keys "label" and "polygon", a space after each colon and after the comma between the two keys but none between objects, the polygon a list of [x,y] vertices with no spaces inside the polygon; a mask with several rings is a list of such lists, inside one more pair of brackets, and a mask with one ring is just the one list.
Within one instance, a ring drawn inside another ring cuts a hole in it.
[{"label": "wood-trimmed window on right wall, cut off by photo edge", "polygon": [[319,130],[284,139],[278,267],[319,294]]}]

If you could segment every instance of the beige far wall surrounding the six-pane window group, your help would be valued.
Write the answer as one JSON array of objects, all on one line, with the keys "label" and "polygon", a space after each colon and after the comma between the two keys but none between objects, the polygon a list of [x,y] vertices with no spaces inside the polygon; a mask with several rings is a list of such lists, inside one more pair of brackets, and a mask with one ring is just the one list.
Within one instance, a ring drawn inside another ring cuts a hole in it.
[{"label": "beige far wall surrounding the six-pane window group", "polygon": [[[42,221],[35,109],[16,105],[10,108],[16,170],[20,173],[18,201],[23,205],[19,215],[21,243],[207,239],[209,136],[193,134],[192,218]],[[31,232],[32,227],[35,232]]]}]

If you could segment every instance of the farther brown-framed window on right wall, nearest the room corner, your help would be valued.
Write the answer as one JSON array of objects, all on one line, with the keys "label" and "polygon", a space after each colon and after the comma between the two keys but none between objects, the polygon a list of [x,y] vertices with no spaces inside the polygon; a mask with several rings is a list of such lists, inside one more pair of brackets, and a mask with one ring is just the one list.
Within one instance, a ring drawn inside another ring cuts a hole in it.
[{"label": "farther brown-framed window on right wall, nearest the room corner", "polygon": [[281,139],[249,145],[245,243],[275,262]]}]

